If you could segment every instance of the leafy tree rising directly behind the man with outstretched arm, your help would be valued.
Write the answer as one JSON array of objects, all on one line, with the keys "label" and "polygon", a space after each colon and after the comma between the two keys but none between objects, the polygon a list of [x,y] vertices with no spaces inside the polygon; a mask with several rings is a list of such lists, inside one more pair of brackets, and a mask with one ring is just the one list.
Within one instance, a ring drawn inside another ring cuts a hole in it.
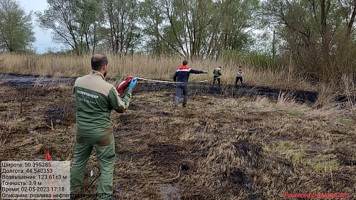
[{"label": "leafy tree rising directly behind the man with outstretched arm", "polygon": [[162,11],[167,19],[164,38],[172,43],[175,51],[184,57],[201,57],[201,46],[208,36],[212,1],[161,0]]}]

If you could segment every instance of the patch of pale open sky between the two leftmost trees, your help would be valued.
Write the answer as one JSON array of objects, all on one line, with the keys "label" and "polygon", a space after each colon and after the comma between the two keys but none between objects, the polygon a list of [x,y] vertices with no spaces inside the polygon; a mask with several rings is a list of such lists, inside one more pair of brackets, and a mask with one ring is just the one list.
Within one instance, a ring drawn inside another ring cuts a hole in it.
[{"label": "patch of pale open sky between the two leftmost trees", "polygon": [[[17,0],[19,1],[21,7],[25,9],[26,14],[33,11],[32,16],[32,24],[34,26],[33,31],[35,32],[36,42],[33,43],[33,48],[36,50],[36,53],[46,53],[47,48],[60,48],[60,45],[56,45],[56,43],[52,43],[51,39],[51,31],[44,31],[39,28],[36,23],[36,16],[34,12],[36,11],[44,11],[47,9],[47,1],[46,0]],[[58,51],[60,49],[57,49]]]}]

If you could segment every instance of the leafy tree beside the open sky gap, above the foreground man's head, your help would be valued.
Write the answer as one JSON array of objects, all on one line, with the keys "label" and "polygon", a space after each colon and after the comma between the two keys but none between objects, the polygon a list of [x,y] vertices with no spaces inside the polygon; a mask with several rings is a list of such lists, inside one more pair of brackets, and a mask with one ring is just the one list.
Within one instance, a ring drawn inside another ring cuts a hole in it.
[{"label": "leafy tree beside the open sky gap, above the foreground man's head", "polygon": [[80,54],[94,51],[101,41],[103,10],[99,0],[47,0],[48,9],[36,13],[41,28],[53,31],[53,41]]}]

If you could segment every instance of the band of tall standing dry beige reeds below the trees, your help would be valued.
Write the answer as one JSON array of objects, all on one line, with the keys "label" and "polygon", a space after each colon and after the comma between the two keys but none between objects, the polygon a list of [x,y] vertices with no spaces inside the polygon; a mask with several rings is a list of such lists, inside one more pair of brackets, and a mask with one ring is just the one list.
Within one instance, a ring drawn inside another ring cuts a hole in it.
[{"label": "band of tall standing dry beige reeds below the trees", "polygon": [[[174,56],[117,56],[107,53],[109,59],[110,78],[125,78],[133,75],[140,78],[155,80],[172,80],[175,70],[182,65],[184,58]],[[20,73],[41,76],[68,76],[77,77],[85,75],[90,70],[91,55],[27,55],[2,53],[0,55],[0,70],[3,73]],[[189,60],[189,67],[195,70],[206,70],[209,74],[191,75],[189,80],[209,80],[213,76],[214,68],[221,66],[221,83],[234,85],[239,65],[243,66],[244,83],[247,85],[293,89],[315,90],[316,88],[303,78],[295,77],[293,68],[283,67],[275,72],[270,69],[256,69],[251,60],[241,60],[241,63],[225,60]]]}]

